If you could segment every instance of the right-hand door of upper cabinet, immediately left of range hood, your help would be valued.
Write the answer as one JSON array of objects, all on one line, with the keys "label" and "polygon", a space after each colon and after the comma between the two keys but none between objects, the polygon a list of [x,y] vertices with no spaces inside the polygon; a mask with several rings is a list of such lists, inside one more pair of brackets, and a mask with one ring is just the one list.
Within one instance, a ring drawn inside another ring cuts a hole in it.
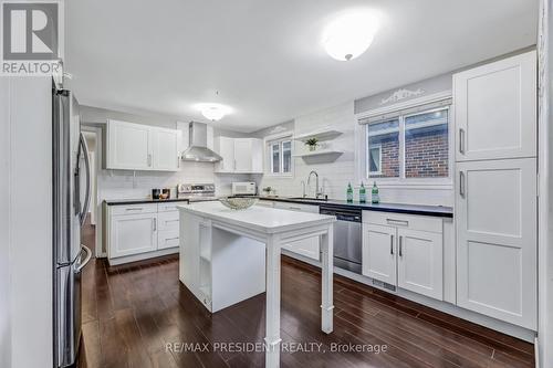
[{"label": "right-hand door of upper cabinet, immediately left of range hood", "polygon": [[180,165],[179,132],[154,128],[150,134],[154,170],[177,171]]}]

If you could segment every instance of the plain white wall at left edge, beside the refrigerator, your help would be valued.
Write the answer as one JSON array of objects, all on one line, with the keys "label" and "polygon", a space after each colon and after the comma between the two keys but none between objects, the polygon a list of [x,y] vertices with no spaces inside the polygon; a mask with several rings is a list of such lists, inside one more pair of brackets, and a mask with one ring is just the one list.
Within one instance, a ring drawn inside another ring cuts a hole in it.
[{"label": "plain white wall at left edge, beside the refrigerator", "polygon": [[0,366],[51,366],[51,81],[0,81]]}]

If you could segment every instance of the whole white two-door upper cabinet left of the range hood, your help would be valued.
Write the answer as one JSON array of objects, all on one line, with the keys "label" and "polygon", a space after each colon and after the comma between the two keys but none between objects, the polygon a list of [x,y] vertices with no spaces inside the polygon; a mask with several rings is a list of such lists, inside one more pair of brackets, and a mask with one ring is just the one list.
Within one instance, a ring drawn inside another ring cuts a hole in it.
[{"label": "whole white two-door upper cabinet left of the range hood", "polygon": [[179,135],[175,129],[108,120],[106,168],[177,171]]}]

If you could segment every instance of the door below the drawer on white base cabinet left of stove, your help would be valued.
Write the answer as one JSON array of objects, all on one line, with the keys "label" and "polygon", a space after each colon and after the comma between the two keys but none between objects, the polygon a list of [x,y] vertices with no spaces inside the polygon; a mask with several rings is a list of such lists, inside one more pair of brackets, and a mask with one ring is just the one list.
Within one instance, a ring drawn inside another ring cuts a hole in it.
[{"label": "door below the drawer on white base cabinet left of stove", "polygon": [[109,257],[118,257],[157,249],[157,213],[112,217]]}]

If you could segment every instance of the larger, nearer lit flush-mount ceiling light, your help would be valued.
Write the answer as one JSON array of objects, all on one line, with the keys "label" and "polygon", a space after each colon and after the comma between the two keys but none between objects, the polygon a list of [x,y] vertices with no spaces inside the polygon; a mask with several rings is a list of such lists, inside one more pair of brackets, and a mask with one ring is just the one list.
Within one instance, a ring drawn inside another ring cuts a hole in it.
[{"label": "larger, nearer lit flush-mount ceiling light", "polygon": [[378,29],[378,17],[369,10],[352,10],[335,18],[323,34],[323,45],[328,55],[348,61],[363,54]]}]

